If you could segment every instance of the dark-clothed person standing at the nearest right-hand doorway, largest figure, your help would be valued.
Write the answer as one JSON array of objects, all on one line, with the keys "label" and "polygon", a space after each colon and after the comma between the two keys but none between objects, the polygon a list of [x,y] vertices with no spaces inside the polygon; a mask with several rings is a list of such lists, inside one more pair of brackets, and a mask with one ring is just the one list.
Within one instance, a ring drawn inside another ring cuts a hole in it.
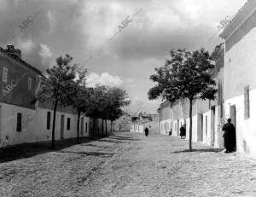
[{"label": "dark-clothed person standing at the nearest right-hand doorway, largest figure", "polygon": [[235,126],[231,124],[231,119],[228,119],[228,123],[224,124],[222,127],[224,130],[224,148],[226,149],[225,153],[231,153],[234,151],[236,146],[236,130]]}]

